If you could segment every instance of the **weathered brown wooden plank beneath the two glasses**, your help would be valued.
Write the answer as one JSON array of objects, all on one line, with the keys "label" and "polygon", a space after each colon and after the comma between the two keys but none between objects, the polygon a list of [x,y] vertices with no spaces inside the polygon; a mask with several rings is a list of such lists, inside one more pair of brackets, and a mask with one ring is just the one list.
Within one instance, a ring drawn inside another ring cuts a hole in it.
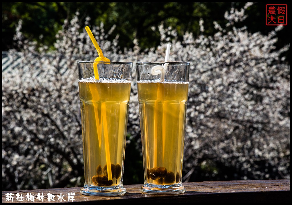
[{"label": "weathered brown wooden plank beneath the two glasses", "polygon": [[[16,194],[22,194],[22,202],[42,202],[36,199],[38,193],[44,195],[43,202],[48,202],[47,194],[55,195],[53,202],[68,202],[68,193],[75,194],[74,200],[69,202],[290,202],[290,180],[249,180],[249,181],[206,181],[183,183],[186,192],[176,195],[143,194],[140,192],[142,184],[124,185],[127,193],[120,196],[85,196],[78,188],[57,188],[41,190],[2,191],[2,202],[6,201],[6,194],[14,194],[13,202],[20,202]],[[34,202],[28,201],[26,195],[35,196]],[[63,198],[60,201],[60,193]],[[59,200],[58,200],[59,198]],[[52,202],[52,201],[50,201]]]}]

